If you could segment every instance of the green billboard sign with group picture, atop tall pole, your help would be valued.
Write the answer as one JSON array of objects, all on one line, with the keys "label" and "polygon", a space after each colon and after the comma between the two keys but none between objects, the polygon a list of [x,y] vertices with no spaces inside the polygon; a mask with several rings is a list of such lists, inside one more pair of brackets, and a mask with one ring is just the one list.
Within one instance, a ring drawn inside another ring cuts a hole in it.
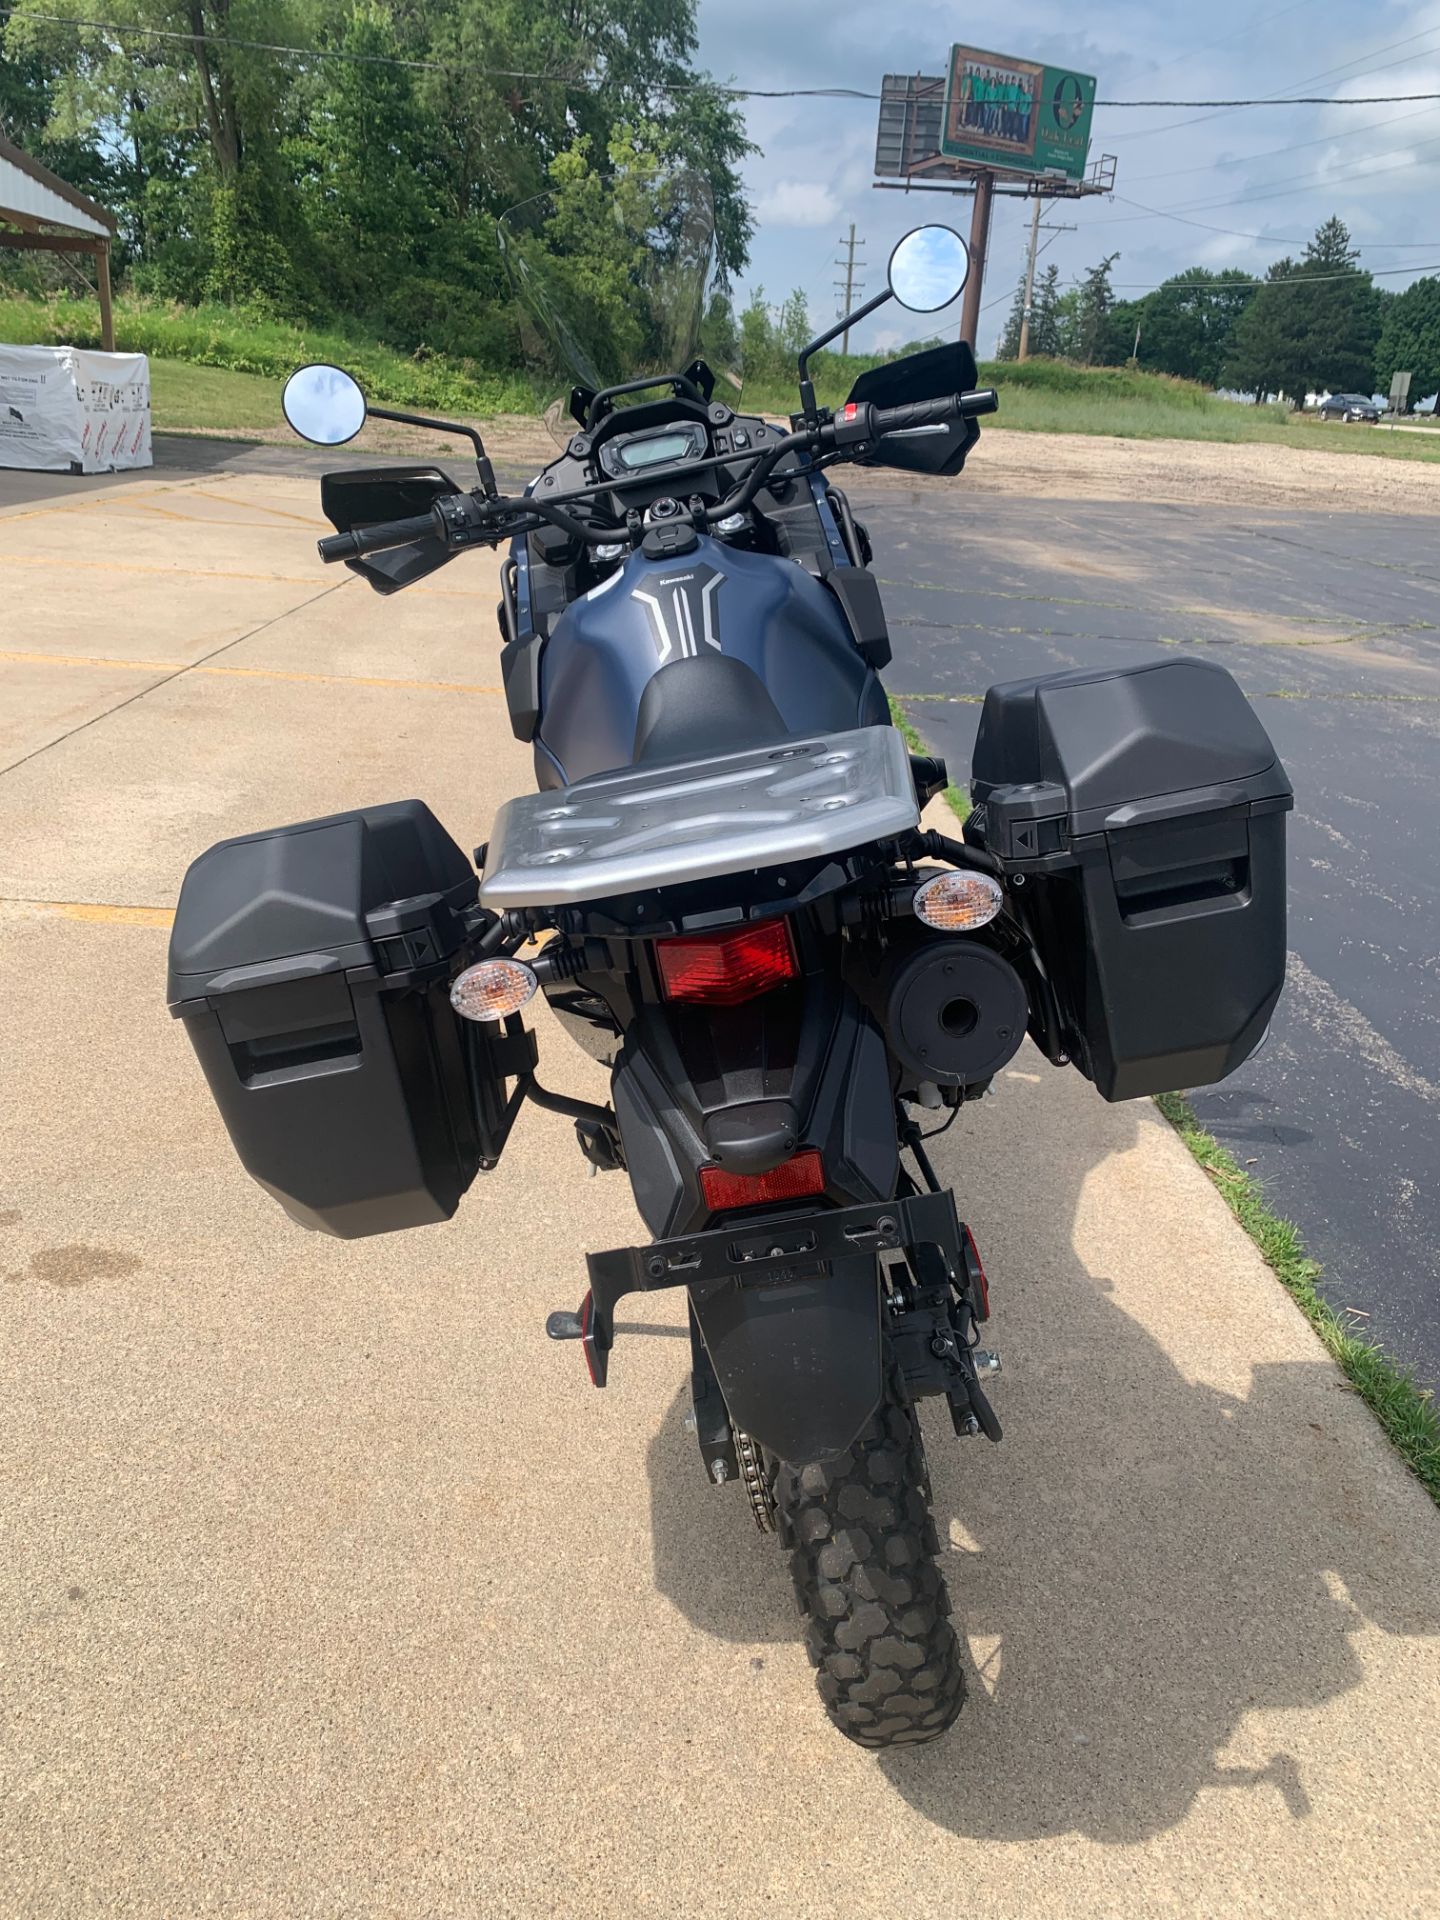
[{"label": "green billboard sign with group picture, atop tall pole", "polygon": [[1092,113],[1089,73],[952,46],[941,154],[970,167],[1083,180]]}]

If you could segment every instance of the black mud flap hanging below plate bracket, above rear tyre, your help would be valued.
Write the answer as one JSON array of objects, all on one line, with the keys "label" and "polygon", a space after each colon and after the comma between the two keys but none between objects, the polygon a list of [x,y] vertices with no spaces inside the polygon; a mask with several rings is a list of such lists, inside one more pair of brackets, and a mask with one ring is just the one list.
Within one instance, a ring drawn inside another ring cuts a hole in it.
[{"label": "black mud flap hanging below plate bracket, above rear tyre", "polygon": [[881,1394],[874,1256],[772,1286],[710,1281],[689,1298],[741,1432],[793,1467],[851,1446]]}]

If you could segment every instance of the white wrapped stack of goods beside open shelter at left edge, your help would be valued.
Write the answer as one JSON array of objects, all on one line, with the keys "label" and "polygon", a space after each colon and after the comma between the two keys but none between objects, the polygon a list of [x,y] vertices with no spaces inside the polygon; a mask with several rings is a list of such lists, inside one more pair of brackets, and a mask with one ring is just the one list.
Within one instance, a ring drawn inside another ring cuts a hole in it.
[{"label": "white wrapped stack of goods beside open shelter at left edge", "polygon": [[0,467],[150,467],[150,361],[90,348],[0,346]]}]

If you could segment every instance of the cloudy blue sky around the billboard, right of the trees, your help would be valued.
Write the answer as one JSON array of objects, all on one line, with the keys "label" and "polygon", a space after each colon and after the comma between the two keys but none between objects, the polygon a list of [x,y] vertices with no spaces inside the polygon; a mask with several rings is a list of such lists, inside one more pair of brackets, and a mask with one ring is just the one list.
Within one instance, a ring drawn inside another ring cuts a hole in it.
[{"label": "cloudy blue sky around the billboard, right of the trees", "polygon": [[[1440,94],[1440,0],[1212,0],[1204,8],[701,0],[699,35],[701,63],[743,86],[879,92],[885,73],[945,73],[950,42],[960,40],[1092,73],[1100,100]],[[866,296],[879,292],[889,250],[908,227],[947,219],[970,234],[968,198],[872,186],[876,115],[868,100],[745,102],[749,136],[762,152],[745,169],[756,236],[741,303],[756,284],[776,303],[801,286],[816,323],[839,313],[835,259],[851,221],[864,240]],[[1402,288],[1423,269],[1440,271],[1440,100],[1244,111],[1098,106],[1091,157],[1100,154],[1116,156],[1116,196],[1060,202],[1046,213],[1077,227],[1041,236],[1048,242],[1043,265],[1056,261],[1062,284],[1106,253],[1119,253],[1112,269],[1119,298],[1139,298],[1188,267],[1263,275],[1271,261],[1298,253],[1331,213],[1346,221],[1380,286]],[[1023,200],[995,204],[981,357],[995,349],[1014,300],[1029,215]],[[943,328],[925,321],[924,332],[931,330]],[[914,334],[916,323],[891,307],[851,344],[885,351]]]}]

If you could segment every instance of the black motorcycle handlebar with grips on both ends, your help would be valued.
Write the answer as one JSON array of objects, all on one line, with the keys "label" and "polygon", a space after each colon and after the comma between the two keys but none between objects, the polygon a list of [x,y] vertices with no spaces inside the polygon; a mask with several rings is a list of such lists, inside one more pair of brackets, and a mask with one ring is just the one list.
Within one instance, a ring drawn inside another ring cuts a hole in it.
[{"label": "black motorcycle handlebar with grips on both ends", "polygon": [[[849,401],[831,420],[816,420],[793,434],[781,434],[772,440],[756,457],[741,486],[714,507],[697,509],[693,518],[699,526],[714,526],[716,520],[724,520],[728,515],[743,513],[785,453],[804,449],[818,455],[860,455],[868,453],[885,434],[904,434],[924,426],[945,426],[950,420],[970,420],[981,413],[995,413],[998,405],[1000,396],[995,388],[981,388],[973,394],[943,394],[937,399],[916,399],[906,407],[876,407],[870,401]],[[699,461],[695,465],[699,470],[716,463]],[[470,545],[495,545],[511,534],[528,534],[543,524],[559,526],[572,540],[580,540],[591,547],[624,538],[624,528],[589,526],[551,501],[444,493],[436,499],[430,513],[415,515],[409,520],[382,520],[376,526],[355,526],[348,534],[326,534],[317,545],[321,559],[326,563],[355,561],[363,553],[378,553],[382,547],[407,547],[415,540],[440,540],[449,551]]]}]

